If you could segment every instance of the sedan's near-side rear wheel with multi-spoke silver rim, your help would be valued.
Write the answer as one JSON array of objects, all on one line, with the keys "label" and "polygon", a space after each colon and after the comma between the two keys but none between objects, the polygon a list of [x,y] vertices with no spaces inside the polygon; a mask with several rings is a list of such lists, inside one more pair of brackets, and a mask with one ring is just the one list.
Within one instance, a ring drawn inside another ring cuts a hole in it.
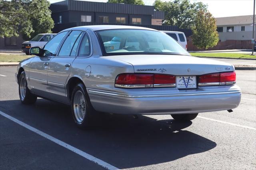
[{"label": "sedan's near-side rear wheel with multi-spoke silver rim", "polygon": [[72,91],[71,111],[76,125],[80,128],[91,127],[93,120],[96,119],[96,111],[82,83],[78,83]]}]

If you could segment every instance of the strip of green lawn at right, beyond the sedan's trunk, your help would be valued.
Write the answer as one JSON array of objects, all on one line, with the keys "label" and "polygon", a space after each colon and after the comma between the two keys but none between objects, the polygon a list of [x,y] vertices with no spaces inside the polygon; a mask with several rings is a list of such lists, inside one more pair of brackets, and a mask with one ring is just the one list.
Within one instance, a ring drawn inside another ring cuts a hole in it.
[{"label": "strip of green lawn at right, beyond the sedan's trunk", "polygon": [[196,57],[223,57],[223,58],[240,58],[240,59],[256,59],[256,55],[242,53],[190,53]]}]

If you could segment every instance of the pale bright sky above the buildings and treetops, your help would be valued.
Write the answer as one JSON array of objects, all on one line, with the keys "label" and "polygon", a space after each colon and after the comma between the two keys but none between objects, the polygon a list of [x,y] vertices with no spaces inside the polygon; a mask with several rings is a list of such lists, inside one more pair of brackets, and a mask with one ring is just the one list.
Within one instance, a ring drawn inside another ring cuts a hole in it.
[{"label": "pale bright sky above the buildings and treetops", "polygon": [[[49,0],[51,3],[62,0]],[[86,0],[93,2],[107,2],[107,0]],[[143,0],[145,5],[152,5],[155,0]],[[170,1],[170,0],[162,0]],[[190,0],[208,4],[208,10],[215,18],[226,16],[253,15],[253,0]]]}]

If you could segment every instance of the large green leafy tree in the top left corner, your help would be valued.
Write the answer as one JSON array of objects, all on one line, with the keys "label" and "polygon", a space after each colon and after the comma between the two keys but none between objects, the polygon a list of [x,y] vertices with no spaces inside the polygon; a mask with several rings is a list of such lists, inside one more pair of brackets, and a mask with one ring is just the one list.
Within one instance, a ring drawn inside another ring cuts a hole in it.
[{"label": "large green leafy tree in the top left corner", "polygon": [[51,32],[54,22],[47,0],[0,0],[0,37],[30,38]]}]

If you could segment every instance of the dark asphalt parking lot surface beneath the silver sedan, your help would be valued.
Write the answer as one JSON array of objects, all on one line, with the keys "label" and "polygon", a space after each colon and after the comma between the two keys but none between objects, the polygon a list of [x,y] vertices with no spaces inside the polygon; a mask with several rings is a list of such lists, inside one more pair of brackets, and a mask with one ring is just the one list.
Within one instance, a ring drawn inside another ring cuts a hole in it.
[{"label": "dark asphalt parking lot surface beneath the silver sedan", "polygon": [[236,71],[242,101],[232,113],[200,113],[188,123],[170,115],[104,114],[90,130],[76,127],[67,105],[45,99],[22,105],[15,72],[0,67],[1,170],[104,169],[100,161],[110,169],[256,169],[255,70]]}]

